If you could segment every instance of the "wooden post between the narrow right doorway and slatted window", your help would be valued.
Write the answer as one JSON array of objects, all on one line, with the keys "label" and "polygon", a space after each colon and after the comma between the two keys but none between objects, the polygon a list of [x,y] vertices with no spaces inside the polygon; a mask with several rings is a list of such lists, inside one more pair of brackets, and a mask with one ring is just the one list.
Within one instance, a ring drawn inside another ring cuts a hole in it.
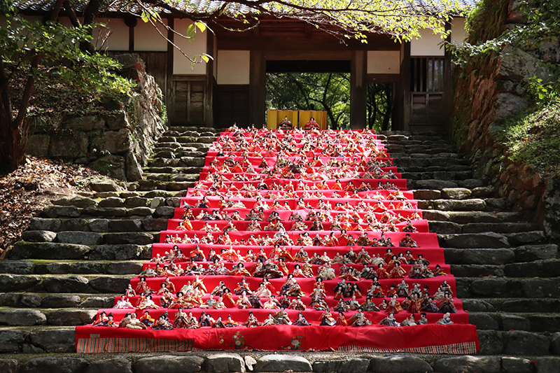
[{"label": "wooden post between the narrow right doorway and slatted window", "polygon": [[393,131],[409,129],[410,122],[410,43],[400,45],[400,77],[393,105]]}]

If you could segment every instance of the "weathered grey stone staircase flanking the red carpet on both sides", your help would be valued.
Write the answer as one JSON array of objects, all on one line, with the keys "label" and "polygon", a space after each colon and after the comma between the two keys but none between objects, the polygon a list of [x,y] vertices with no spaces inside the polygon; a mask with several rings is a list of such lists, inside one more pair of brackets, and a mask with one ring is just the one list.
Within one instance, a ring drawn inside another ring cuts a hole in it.
[{"label": "weathered grey stone staircase flanking the red carpet on both sides", "polygon": [[37,353],[73,361],[57,372],[82,372],[87,365],[92,372],[124,373],[132,367],[159,372],[162,362],[173,359],[188,360],[186,372],[251,370],[255,364],[258,372],[558,372],[558,247],[532,216],[513,211],[507,200],[493,197],[484,181],[472,178],[469,162],[437,133],[386,132],[381,139],[444,247],[457,296],[477,325],[477,356],[304,352],[276,359],[274,365],[265,364],[269,354],[250,351],[241,351],[243,358],[179,353],[164,360],[157,354],[71,354],[73,326],[90,323],[97,309],[111,307],[151,258],[151,244],[167,228],[184,190],[197,180],[215,132],[171,127],[144,168],[144,180],[128,190],[96,183],[92,192],[53,201],[31,222],[25,241],[0,262],[1,372],[33,372],[32,363],[41,358],[25,354]]}]

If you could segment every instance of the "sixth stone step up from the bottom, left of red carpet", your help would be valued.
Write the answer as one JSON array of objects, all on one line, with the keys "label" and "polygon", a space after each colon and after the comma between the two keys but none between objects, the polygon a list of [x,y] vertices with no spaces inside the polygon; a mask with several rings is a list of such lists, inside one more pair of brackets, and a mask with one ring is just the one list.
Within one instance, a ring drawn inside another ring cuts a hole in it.
[{"label": "sixth stone step up from the bottom, left of red carpet", "polygon": [[144,260],[3,260],[3,274],[139,274]]}]

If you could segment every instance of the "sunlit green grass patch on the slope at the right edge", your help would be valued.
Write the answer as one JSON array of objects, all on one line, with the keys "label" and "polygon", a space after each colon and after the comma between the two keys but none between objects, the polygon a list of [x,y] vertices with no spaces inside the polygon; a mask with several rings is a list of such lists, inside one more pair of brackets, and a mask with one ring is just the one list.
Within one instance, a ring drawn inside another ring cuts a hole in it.
[{"label": "sunlit green grass patch on the slope at the right edge", "polygon": [[560,176],[560,101],[539,104],[503,122],[497,139],[507,158],[535,171]]}]

